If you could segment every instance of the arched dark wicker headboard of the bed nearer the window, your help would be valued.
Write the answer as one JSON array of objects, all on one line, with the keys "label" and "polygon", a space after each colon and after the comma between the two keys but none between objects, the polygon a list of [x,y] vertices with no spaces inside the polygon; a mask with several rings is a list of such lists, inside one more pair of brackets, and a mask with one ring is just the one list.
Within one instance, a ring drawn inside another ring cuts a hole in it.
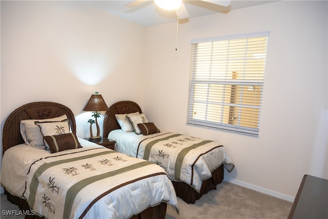
[{"label": "arched dark wicker headboard of the bed nearer the window", "polygon": [[112,130],[121,128],[116,121],[115,114],[127,114],[132,112],[142,112],[139,105],[133,101],[119,101],[110,106],[104,117],[103,136],[107,137]]}]

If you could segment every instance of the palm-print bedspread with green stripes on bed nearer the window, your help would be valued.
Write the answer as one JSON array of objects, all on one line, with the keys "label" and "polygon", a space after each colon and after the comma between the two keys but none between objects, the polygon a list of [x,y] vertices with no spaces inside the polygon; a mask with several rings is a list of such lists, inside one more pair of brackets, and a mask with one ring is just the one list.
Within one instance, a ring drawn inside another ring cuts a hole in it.
[{"label": "palm-print bedspread with green stripes on bed nearer the window", "polygon": [[158,164],[172,181],[185,182],[200,191],[202,181],[221,164],[232,171],[234,164],[224,147],[217,142],[161,131],[142,135],[120,129],[109,133],[116,141],[115,150]]}]

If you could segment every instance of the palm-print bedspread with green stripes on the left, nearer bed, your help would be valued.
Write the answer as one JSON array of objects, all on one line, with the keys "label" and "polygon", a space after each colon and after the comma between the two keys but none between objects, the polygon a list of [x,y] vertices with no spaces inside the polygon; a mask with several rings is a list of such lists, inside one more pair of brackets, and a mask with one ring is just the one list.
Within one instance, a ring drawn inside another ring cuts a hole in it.
[{"label": "palm-print bedspread with green stripes on the left, nearer bed", "polygon": [[83,148],[54,154],[25,144],[11,147],[3,157],[2,184],[47,218],[129,218],[161,202],[178,211],[173,185],[160,167],[79,142]]}]

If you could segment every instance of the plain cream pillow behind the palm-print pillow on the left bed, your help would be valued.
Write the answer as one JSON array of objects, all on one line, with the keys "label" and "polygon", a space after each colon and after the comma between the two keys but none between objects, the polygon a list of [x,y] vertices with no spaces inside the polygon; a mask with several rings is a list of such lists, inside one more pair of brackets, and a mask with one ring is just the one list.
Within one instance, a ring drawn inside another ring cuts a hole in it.
[{"label": "plain cream pillow behind the palm-print pillow on the left bed", "polygon": [[46,118],[44,120],[22,120],[20,121],[20,134],[26,144],[37,147],[44,146],[43,136],[40,128],[35,125],[35,122],[59,122],[67,120],[67,115],[61,115],[55,118]]}]

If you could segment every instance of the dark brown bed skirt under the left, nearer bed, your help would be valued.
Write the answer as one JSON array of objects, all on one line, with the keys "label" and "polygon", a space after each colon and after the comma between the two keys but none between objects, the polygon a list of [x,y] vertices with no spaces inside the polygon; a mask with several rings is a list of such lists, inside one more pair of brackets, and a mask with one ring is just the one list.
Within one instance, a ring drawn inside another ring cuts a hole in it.
[{"label": "dark brown bed skirt under the left, nearer bed", "polygon": [[[17,205],[20,210],[24,212],[29,212],[30,207],[26,202],[26,200],[10,194],[6,190],[6,188],[5,188],[5,194],[7,195],[7,200],[9,202],[11,202],[14,205]],[[166,210],[167,210],[167,204],[162,202],[157,206],[147,208],[146,210],[142,211],[140,214],[134,215],[131,218],[132,219],[146,219],[146,218],[164,219],[166,215]],[[25,215],[25,219],[41,219],[41,218],[44,219],[44,217],[39,217],[37,215],[32,215],[32,214]]]}]

